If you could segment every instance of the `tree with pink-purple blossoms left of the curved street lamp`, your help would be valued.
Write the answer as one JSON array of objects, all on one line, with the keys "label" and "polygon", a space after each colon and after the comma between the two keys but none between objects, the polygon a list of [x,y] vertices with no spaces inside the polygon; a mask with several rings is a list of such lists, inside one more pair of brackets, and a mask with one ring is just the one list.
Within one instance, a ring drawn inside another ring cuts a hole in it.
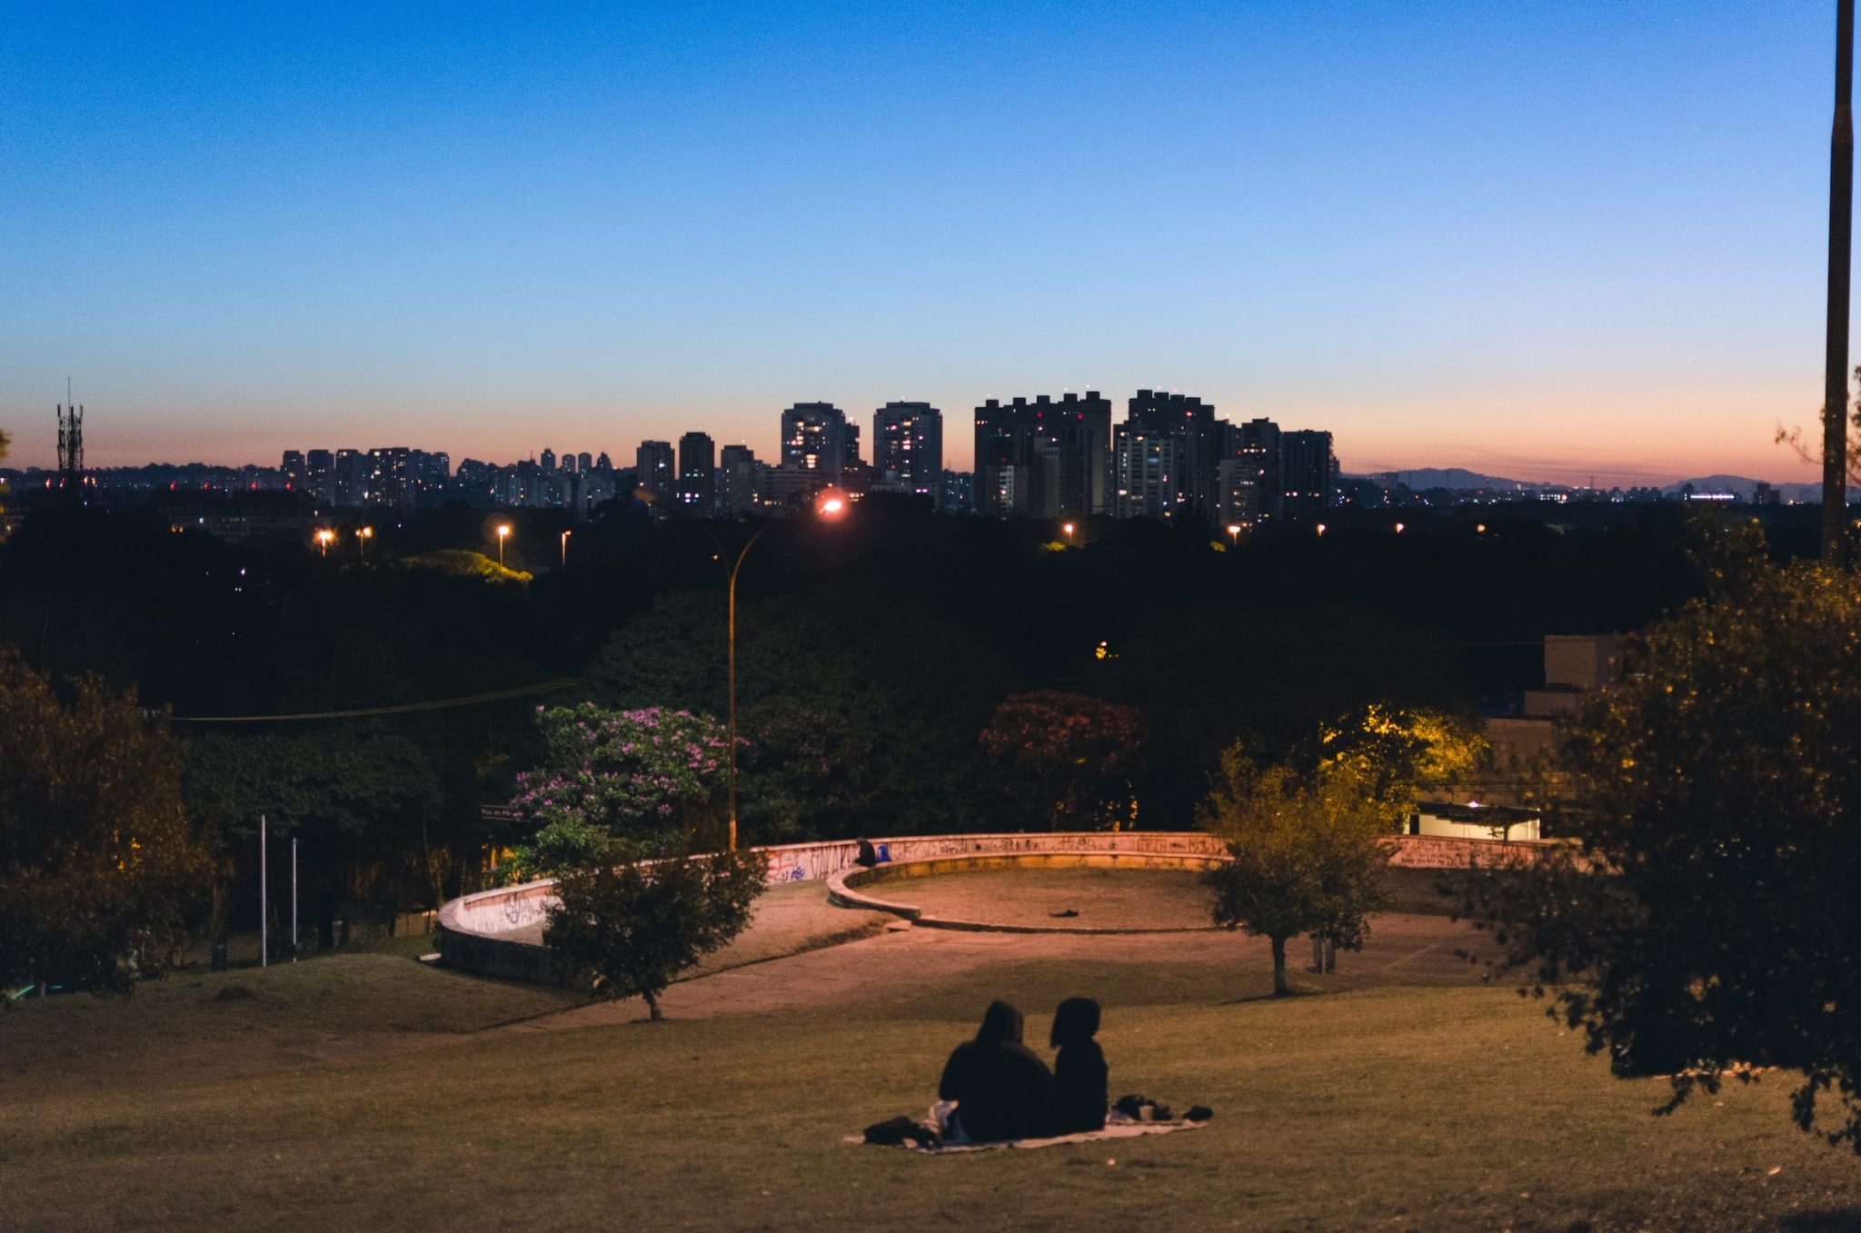
[{"label": "tree with pink-purple blossoms left of the curved street lamp", "polygon": [[542,766],[517,776],[512,805],[536,828],[517,850],[525,876],[651,855],[716,822],[724,729],[664,707],[538,707]]}]

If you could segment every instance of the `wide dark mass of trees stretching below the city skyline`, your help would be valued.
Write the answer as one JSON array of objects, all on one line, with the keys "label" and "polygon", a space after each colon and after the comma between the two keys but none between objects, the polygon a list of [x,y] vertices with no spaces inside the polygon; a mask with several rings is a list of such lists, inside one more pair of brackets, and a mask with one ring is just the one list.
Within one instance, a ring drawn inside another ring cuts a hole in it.
[{"label": "wide dark mass of trees stretching below the city skyline", "polygon": [[[1472,712],[1537,684],[1545,632],[1634,629],[1697,591],[1671,510],[1569,534],[1483,517],[1260,545],[1094,523],[1063,543],[871,497],[839,526],[774,526],[739,582],[743,839],[1050,826],[1055,789],[983,740],[1007,699],[1042,692],[1131,718],[1096,805],[1187,826],[1236,738],[1284,748],[1368,701]],[[724,718],[728,562],[702,528],[627,506],[579,528],[512,521],[508,563],[529,584],[428,567],[443,549],[495,560],[469,510],[329,556],[45,510],[0,545],[0,643],[167,712],[220,937],[255,917],[264,815],[274,839],[300,839],[328,945],[337,921],[482,885],[488,854],[529,839],[482,807],[536,764],[538,705]],[[711,530],[731,556],[752,528]],[[581,684],[432,707],[560,679]],[[199,722],[391,707],[411,710]]]}]

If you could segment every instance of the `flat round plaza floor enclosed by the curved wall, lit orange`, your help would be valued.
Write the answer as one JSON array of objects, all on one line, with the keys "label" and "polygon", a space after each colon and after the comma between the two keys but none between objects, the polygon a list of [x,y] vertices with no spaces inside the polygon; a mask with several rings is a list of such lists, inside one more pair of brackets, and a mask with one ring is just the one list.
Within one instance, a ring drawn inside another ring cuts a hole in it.
[{"label": "flat round plaza floor enclosed by the curved wall, lit orange", "polygon": [[1213,928],[1195,868],[975,868],[867,883],[927,917],[997,926]]}]

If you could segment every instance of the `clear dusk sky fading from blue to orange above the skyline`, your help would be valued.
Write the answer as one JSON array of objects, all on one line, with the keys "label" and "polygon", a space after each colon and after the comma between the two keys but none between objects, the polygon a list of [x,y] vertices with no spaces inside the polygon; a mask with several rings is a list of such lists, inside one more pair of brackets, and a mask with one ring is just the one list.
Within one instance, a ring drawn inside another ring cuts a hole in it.
[{"label": "clear dusk sky fading from blue to orange above the skyline", "polygon": [[[1137,389],[1814,480],[1833,4],[0,7],[0,430],[508,461]],[[1861,359],[1861,348],[1854,350]],[[1120,415],[1122,418],[1122,415]]]}]

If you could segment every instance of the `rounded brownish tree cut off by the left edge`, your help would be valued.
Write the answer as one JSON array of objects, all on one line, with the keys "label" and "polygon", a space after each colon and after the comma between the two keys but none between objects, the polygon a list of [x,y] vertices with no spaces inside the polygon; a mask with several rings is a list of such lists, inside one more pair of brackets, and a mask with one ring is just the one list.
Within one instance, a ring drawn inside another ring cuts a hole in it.
[{"label": "rounded brownish tree cut off by the left edge", "polygon": [[207,850],[136,697],[63,692],[0,649],[0,984],[127,989],[175,961]]}]

